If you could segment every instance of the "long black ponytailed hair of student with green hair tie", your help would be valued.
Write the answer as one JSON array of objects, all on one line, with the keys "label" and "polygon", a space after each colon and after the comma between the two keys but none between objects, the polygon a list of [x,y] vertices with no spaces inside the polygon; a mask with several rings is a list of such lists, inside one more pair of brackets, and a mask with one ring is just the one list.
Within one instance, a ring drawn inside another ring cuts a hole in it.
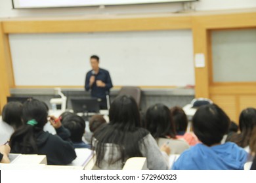
[{"label": "long black ponytailed hair of student with green hair tie", "polygon": [[[9,143],[11,149],[15,147],[15,152],[21,154],[37,154],[35,136],[39,131],[43,131],[43,126],[47,123],[47,116],[48,107],[45,103],[37,99],[28,99],[22,108],[24,125],[16,129],[12,134]],[[37,124],[27,124],[30,120],[35,120]]]}]

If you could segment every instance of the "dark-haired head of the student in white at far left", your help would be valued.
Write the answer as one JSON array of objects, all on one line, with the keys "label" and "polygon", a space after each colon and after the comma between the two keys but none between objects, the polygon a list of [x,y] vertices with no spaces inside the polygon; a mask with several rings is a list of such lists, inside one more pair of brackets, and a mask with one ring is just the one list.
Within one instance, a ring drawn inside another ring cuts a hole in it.
[{"label": "dark-haired head of the student in white at far left", "polygon": [[3,121],[11,125],[14,129],[22,125],[22,106],[20,102],[9,102],[3,107]]}]

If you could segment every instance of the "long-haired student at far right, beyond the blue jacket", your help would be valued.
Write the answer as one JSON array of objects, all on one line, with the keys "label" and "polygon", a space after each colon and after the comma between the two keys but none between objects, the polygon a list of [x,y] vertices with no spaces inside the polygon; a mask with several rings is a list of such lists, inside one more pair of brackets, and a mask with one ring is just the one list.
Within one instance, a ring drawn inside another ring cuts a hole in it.
[{"label": "long-haired student at far right, beyond the blue jacket", "polygon": [[239,128],[241,133],[233,133],[226,141],[235,142],[238,146],[249,152],[249,140],[251,139],[251,131],[256,126],[256,109],[245,108],[239,117]]}]

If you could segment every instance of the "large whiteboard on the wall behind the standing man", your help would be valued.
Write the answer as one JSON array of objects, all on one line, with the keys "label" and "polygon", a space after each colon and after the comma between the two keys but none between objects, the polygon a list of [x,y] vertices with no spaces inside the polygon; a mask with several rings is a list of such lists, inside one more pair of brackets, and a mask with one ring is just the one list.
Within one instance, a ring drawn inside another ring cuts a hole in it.
[{"label": "large whiteboard on the wall behind the standing man", "polygon": [[192,31],[9,35],[16,86],[83,86],[100,57],[114,86],[194,85]]}]

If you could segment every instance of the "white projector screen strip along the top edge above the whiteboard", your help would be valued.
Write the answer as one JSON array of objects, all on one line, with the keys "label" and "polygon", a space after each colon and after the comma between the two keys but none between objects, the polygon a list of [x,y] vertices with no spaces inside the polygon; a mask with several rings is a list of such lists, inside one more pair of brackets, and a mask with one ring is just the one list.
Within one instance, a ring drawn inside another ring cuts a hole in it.
[{"label": "white projector screen strip along the top edge above the whiteboard", "polygon": [[146,3],[187,2],[198,0],[12,0],[13,8],[87,7]]}]

